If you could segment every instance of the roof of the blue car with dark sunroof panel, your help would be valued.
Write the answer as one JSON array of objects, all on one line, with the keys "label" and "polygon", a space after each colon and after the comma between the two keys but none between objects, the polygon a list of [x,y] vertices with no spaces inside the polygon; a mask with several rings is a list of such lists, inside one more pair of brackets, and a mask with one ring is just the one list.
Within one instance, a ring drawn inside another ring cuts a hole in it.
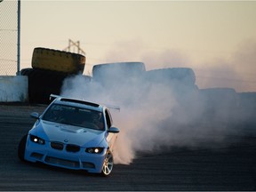
[{"label": "roof of the blue car with dark sunroof panel", "polygon": [[103,109],[106,108],[105,106],[100,105],[98,103],[94,103],[86,100],[77,100],[77,99],[71,99],[66,97],[60,97],[60,96],[57,96],[52,103],[68,105],[73,107],[80,107],[80,108],[89,108],[97,111],[103,111]]}]

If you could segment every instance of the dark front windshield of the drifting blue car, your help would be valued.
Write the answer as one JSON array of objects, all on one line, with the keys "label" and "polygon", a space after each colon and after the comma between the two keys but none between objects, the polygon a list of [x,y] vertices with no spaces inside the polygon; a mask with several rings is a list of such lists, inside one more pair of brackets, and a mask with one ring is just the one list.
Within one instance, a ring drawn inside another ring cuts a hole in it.
[{"label": "dark front windshield of the drifting blue car", "polygon": [[100,111],[53,104],[42,117],[45,121],[70,124],[94,130],[104,130],[103,115]]}]

